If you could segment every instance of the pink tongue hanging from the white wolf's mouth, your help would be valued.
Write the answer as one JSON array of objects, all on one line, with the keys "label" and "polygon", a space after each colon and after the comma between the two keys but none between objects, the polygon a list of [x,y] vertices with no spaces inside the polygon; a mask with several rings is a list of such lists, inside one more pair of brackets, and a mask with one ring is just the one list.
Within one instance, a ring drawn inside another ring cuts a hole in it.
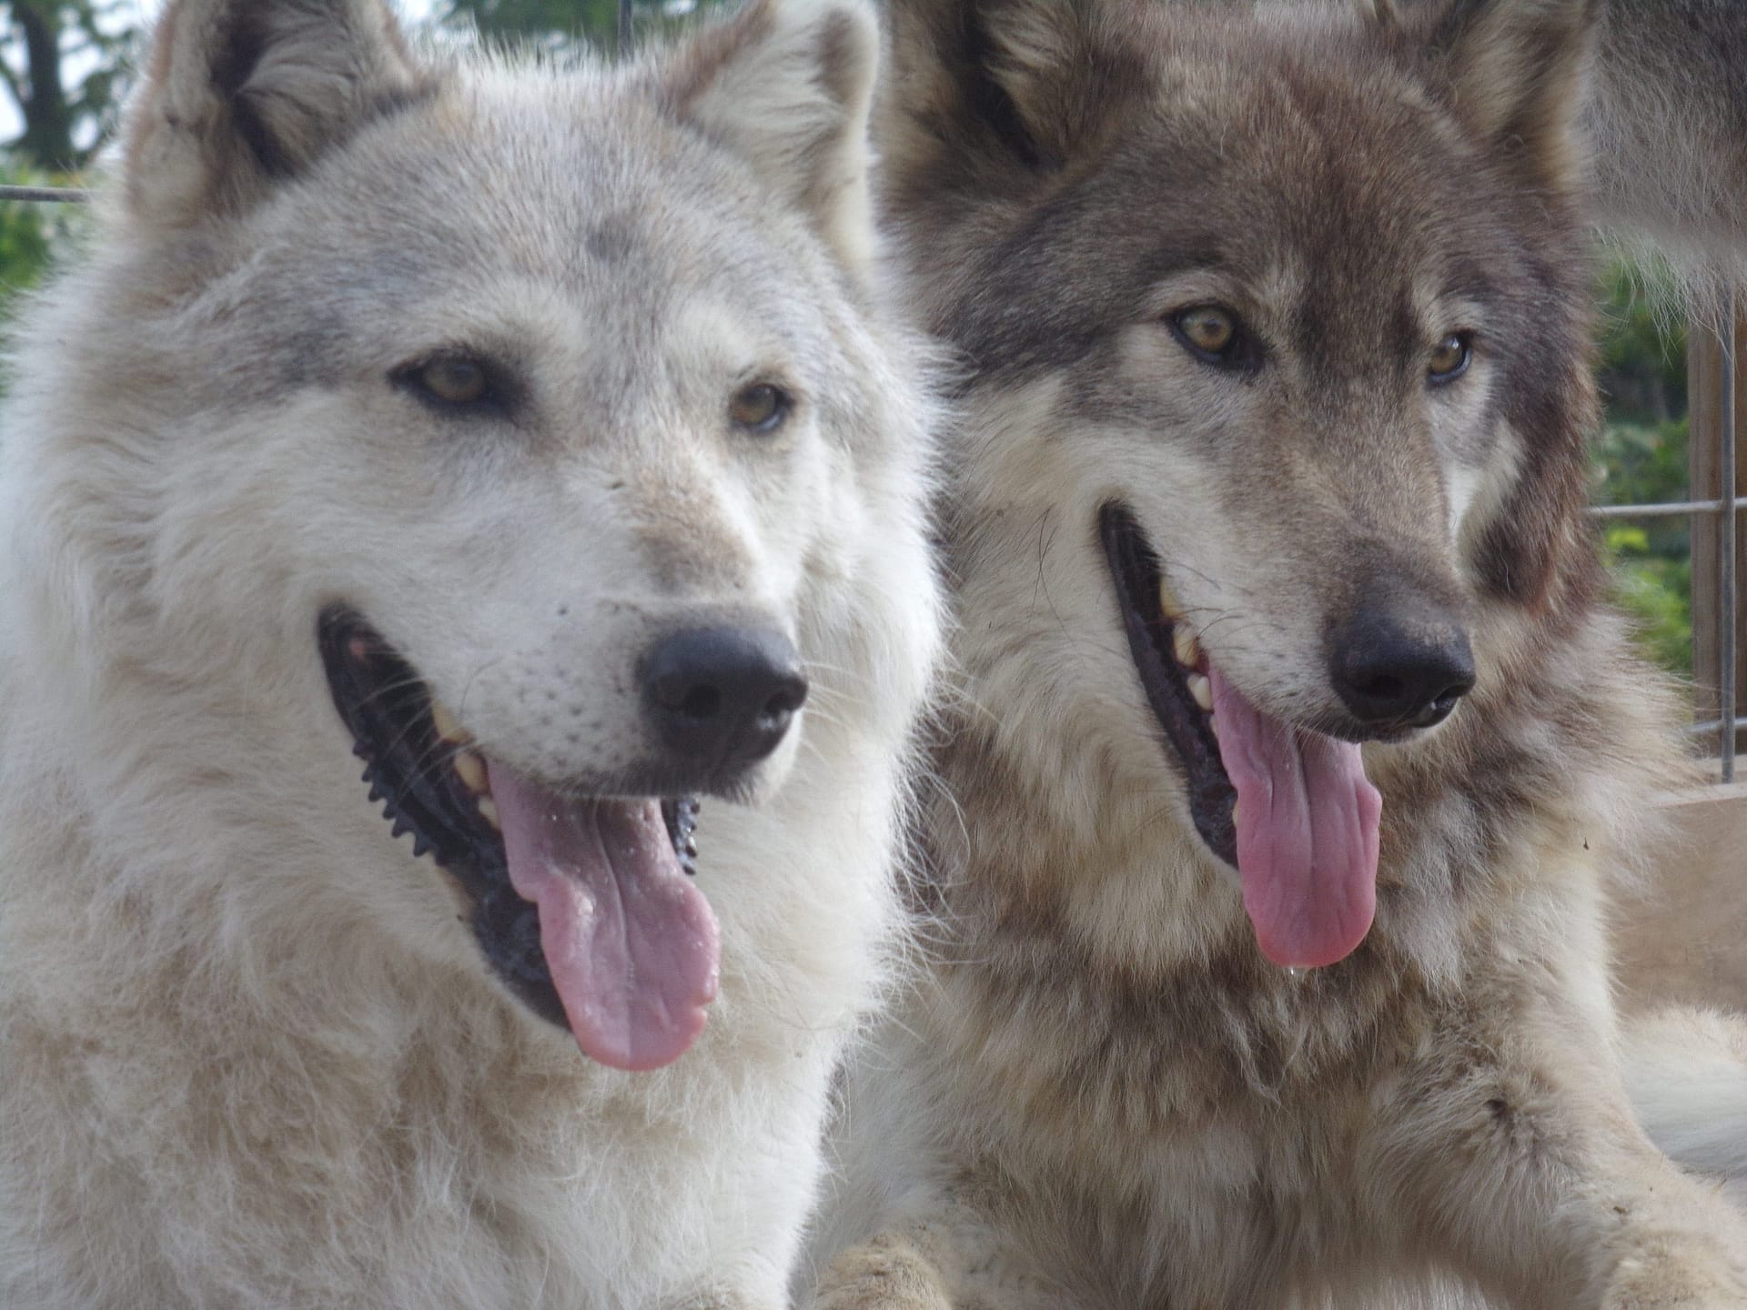
[{"label": "pink tongue hanging from the white wolf's mouth", "polygon": [[615,1069],[678,1060],[716,996],[716,917],[680,870],[660,802],[578,805],[487,769],[510,884],[540,907],[577,1045]]}]

